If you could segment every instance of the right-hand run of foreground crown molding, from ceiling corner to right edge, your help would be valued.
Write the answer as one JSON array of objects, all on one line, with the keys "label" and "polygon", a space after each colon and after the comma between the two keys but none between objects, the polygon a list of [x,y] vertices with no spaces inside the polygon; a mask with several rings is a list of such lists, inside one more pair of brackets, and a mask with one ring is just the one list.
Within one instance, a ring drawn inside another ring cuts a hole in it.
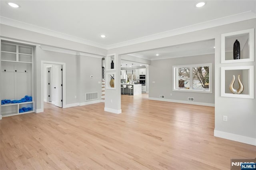
[{"label": "right-hand run of foreground crown molding, from ceiling corner to right edge", "polygon": [[177,28],[174,30],[161,32],[161,33],[153,34],[150,36],[145,36],[142,38],[128,40],[126,42],[120,42],[120,43],[108,45],[107,49],[114,49],[114,48],[123,47],[123,46],[127,46],[127,45],[133,45],[136,43],[143,43],[143,42],[148,42],[148,41],[157,40],[157,39],[161,39],[161,38],[167,38],[167,37],[171,37],[171,36],[185,34],[188,32],[204,30],[204,29],[213,28],[216,26],[222,26],[222,25],[231,24],[234,22],[240,22],[240,21],[244,21],[244,20],[250,20],[250,19],[254,19],[254,18],[256,18],[256,14],[252,11],[247,11],[247,12],[235,14],[232,16],[218,18],[215,20],[210,20],[207,22],[199,23],[199,24],[194,24],[194,25],[190,25],[190,26],[186,26],[186,27],[182,27],[182,28]]}]

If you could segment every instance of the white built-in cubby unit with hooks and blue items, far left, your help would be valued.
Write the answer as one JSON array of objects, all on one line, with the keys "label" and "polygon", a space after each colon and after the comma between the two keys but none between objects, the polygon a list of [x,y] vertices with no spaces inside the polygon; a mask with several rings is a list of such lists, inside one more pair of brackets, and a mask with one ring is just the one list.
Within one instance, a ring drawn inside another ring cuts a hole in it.
[{"label": "white built-in cubby unit with hooks and blue items, far left", "polygon": [[[1,105],[2,117],[34,112],[33,47],[1,42],[1,100],[20,100],[26,95],[32,101]],[[30,111],[19,112],[23,107]]]}]

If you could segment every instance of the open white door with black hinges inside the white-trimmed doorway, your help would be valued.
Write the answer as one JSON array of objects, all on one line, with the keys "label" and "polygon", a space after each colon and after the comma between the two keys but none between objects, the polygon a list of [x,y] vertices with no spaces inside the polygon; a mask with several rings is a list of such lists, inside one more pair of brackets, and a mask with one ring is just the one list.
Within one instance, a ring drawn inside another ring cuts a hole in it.
[{"label": "open white door with black hinges inside the white-trimmed doorway", "polygon": [[55,67],[55,106],[62,107],[62,65]]}]

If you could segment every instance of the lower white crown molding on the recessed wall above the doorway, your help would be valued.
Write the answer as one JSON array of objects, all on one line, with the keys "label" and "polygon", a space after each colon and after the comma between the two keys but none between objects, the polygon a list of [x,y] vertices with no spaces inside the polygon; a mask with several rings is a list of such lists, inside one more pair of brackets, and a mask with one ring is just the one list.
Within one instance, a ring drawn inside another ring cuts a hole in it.
[{"label": "lower white crown molding on the recessed wall above the doorway", "polygon": [[39,45],[39,47],[42,50],[54,51],[54,52],[58,52],[58,53],[66,53],[66,54],[72,54],[72,55],[82,55],[82,56],[95,57],[95,58],[105,57],[105,56],[101,56],[101,55],[94,55],[94,54],[90,54],[90,53],[72,51],[72,50],[69,50],[69,49],[61,49],[61,48],[56,48],[56,47],[50,47],[50,46],[46,46],[46,45]]}]

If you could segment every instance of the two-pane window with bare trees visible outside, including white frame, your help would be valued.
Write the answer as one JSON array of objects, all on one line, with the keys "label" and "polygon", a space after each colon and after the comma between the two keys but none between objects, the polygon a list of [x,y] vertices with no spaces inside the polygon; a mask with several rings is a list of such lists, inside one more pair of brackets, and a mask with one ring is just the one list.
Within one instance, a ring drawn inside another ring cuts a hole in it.
[{"label": "two-pane window with bare trees visible outside, including white frame", "polygon": [[212,93],[212,64],[174,66],[174,91]]}]

